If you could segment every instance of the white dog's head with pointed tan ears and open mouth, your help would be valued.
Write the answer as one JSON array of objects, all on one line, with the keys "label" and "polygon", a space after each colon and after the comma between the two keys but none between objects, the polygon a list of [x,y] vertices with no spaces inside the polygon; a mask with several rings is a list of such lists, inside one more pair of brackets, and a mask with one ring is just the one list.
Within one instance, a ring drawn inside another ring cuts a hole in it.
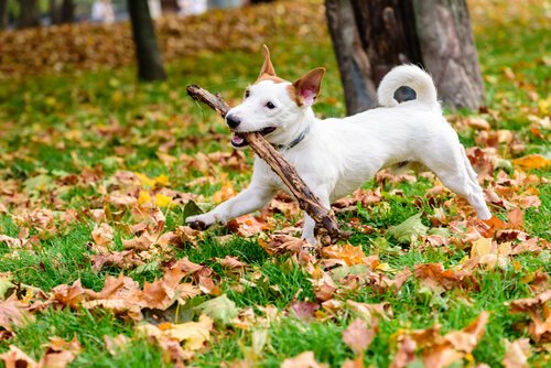
[{"label": "white dog's head with pointed tan ears and open mouth", "polygon": [[248,143],[239,136],[260,132],[270,143],[289,144],[307,123],[304,119],[320,94],[325,68],[315,68],[294,83],[276,75],[270,51],[262,46],[264,63],[257,80],[249,86],[240,105],[226,115],[226,123],[234,131],[231,145]]}]

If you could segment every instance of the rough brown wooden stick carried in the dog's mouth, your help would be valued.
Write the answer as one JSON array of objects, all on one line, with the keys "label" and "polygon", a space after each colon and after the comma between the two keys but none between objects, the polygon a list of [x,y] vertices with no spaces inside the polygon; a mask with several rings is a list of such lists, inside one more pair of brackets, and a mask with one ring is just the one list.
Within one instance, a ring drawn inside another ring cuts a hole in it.
[{"label": "rough brown wooden stick carried in the dog's mouth", "polygon": [[[223,118],[229,110],[229,106],[220,96],[215,96],[197,85],[187,86],[187,94],[193,99],[209,106]],[[335,216],[322,205],[320,198],[317,198],[317,196],[306,186],[304,181],[296,173],[296,170],[294,170],[294,167],[291,166],[260,133],[239,133],[239,136],[241,136],[249,143],[252,151],[255,151],[260,159],[264,160],[271,170],[281,177],[289,191],[291,191],[299,202],[300,207],[309,214],[317,225],[323,227],[331,238],[338,238],[341,231]],[[320,227],[316,227],[316,235],[323,235],[318,234],[318,230]],[[331,239],[323,238],[324,237],[322,237],[322,243],[324,245],[331,241]]]}]

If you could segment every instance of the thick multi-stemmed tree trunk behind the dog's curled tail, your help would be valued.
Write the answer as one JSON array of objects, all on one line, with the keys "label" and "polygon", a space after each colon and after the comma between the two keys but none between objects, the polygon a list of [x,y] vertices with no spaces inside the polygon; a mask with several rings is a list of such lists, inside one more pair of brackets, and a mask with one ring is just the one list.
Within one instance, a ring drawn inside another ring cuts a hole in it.
[{"label": "thick multi-stemmed tree trunk behind the dog's curled tail", "polygon": [[484,102],[464,0],[326,0],[325,4],[348,115],[374,107],[375,86],[404,63],[428,69],[440,98],[452,107],[476,109]]}]

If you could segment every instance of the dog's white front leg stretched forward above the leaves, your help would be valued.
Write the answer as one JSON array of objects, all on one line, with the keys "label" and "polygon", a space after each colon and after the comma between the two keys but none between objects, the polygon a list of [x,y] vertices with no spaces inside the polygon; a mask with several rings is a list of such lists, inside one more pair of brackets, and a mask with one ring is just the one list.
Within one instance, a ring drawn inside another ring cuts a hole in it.
[{"label": "dog's white front leg stretched forward above the leaves", "polygon": [[276,194],[271,186],[251,183],[251,185],[237,196],[222,203],[213,210],[185,219],[194,229],[205,230],[210,225],[226,224],[229,219],[255,212],[263,207]]}]

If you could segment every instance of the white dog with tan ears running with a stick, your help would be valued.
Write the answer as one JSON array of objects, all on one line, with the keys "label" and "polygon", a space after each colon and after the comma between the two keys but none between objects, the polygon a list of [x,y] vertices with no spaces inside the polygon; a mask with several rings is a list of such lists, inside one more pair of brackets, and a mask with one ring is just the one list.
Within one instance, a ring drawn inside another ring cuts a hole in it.
[{"label": "white dog with tan ears running with a stick", "polygon": [[[247,88],[244,101],[226,116],[235,148],[247,145],[240,132],[261,132],[327,209],[333,201],[353,193],[379,170],[418,162],[467,199],[480,219],[491,217],[465,149],[442,116],[434,83],[421,68],[402,65],[390,71],[378,89],[382,107],[344,119],[320,120],[312,105],[325,68],[315,68],[290,83],[276,76],[266,45],[263,53],[258,79]],[[417,99],[398,104],[393,96],[401,86],[412,88]],[[186,221],[201,229],[225,224],[263,207],[278,190],[287,187],[257,156],[247,190]],[[314,226],[304,214],[302,236],[311,243],[315,243]]]}]

